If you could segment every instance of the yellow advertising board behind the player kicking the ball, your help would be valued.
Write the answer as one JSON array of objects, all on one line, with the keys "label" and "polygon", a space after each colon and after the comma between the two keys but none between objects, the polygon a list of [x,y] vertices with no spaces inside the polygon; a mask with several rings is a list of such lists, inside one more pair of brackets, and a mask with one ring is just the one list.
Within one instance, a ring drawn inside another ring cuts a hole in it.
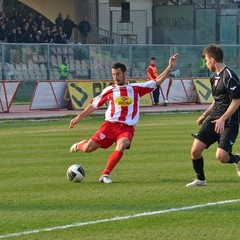
[{"label": "yellow advertising board behind the player kicking the ball", "polygon": [[[131,80],[129,80],[131,81]],[[145,82],[146,80],[139,80],[137,82]],[[136,81],[131,81],[136,82]],[[74,109],[84,109],[90,103],[90,100],[98,96],[104,88],[113,84],[111,80],[102,81],[86,81],[86,80],[72,80],[67,81],[69,96]],[[152,101],[150,94],[146,94],[141,98],[140,106],[151,106]],[[106,108],[107,106],[102,106]]]}]

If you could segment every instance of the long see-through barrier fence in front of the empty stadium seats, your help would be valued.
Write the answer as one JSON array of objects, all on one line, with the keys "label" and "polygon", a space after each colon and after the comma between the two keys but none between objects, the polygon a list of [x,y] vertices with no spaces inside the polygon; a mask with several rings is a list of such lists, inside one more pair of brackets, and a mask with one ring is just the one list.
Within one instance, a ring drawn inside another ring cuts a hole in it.
[{"label": "long see-through barrier fence in front of the empty stadium seats", "polygon": [[[176,69],[179,77],[206,77],[200,71],[203,45],[82,45],[82,44],[7,44],[0,47],[0,80],[21,80],[17,99],[30,99],[36,81],[59,80],[59,65],[66,57],[68,80],[111,79],[111,66],[123,62],[131,78],[147,79],[149,59],[154,56],[158,71],[168,64],[169,56],[179,53]],[[239,73],[240,46],[221,45],[224,61]],[[191,77],[191,76],[188,76]]]}]

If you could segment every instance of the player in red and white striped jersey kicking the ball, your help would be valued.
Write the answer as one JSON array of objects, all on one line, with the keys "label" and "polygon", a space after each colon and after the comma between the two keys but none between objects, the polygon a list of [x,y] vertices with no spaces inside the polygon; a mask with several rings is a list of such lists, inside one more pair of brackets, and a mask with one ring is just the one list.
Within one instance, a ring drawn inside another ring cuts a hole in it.
[{"label": "player in red and white striped jersey kicking the ball", "polygon": [[108,103],[105,113],[105,121],[99,130],[89,139],[75,143],[70,148],[70,152],[92,152],[98,148],[109,148],[116,143],[115,150],[108,158],[105,169],[102,172],[99,181],[102,183],[111,183],[109,177],[114,167],[123,156],[125,149],[130,149],[134,136],[134,126],[139,119],[140,98],[152,92],[169,75],[176,64],[177,54],[170,57],[167,68],[156,78],[156,80],[145,83],[126,82],[126,66],[122,63],[116,63],[112,66],[112,77],[114,85],[106,87],[100,95],[93,98],[90,104],[70,121],[69,128],[88,116],[100,106]]}]

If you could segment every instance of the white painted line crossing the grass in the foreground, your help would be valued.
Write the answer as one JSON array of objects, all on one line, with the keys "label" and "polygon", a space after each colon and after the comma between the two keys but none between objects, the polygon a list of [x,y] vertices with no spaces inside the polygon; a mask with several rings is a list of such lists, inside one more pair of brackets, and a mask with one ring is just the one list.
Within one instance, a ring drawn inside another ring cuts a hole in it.
[{"label": "white painted line crossing the grass in the foreground", "polygon": [[0,239],[9,238],[9,237],[17,237],[17,236],[22,236],[22,235],[30,235],[30,234],[40,233],[40,232],[51,232],[51,231],[58,230],[58,229],[67,229],[67,228],[73,228],[73,227],[94,225],[94,224],[98,224],[98,223],[120,221],[120,220],[126,220],[126,219],[131,219],[131,218],[138,218],[138,217],[146,217],[146,216],[158,215],[158,214],[163,214],[163,213],[192,210],[192,209],[197,209],[197,208],[204,208],[204,207],[209,207],[209,206],[215,206],[215,205],[221,205],[221,204],[227,204],[227,203],[235,203],[235,202],[240,202],[240,199],[225,200],[225,201],[219,201],[219,202],[210,202],[210,203],[205,203],[205,204],[200,204],[200,205],[185,206],[185,207],[181,207],[181,208],[170,208],[170,209],[166,209],[166,210],[159,210],[159,211],[153,211],[153,212],[137,213],[134,215],[128,215],[128,216],[123,216],[123,217],[117,216],[114,218],[107,218],[107,219],[95,220],[95,221],[89,221],[89,222],[77,222],[77,223],[72,223],[69,225],[57,226],[57,227],[52,227],[52,228],[43,228],[43,229],[24,231],[24,232],[18,232],[18,233],[9,233],[6,235],[0,235]]}]

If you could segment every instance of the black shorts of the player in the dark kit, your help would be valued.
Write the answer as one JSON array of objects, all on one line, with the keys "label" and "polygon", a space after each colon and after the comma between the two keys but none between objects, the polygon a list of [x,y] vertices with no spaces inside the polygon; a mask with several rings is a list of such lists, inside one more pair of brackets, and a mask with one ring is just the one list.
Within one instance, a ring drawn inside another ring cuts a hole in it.
[{"label": "black shorts of the player in the dark kit", "polygon": [[206,148],[213,143],[218,142],[218,147],[226,152],[232,152],[232,146],[238,136],[238,124],[225,124],[223,133],[216,133],[215,123],[211,123],[212,120],[207,119],[199,132],[194,137],[207,145]]}]

